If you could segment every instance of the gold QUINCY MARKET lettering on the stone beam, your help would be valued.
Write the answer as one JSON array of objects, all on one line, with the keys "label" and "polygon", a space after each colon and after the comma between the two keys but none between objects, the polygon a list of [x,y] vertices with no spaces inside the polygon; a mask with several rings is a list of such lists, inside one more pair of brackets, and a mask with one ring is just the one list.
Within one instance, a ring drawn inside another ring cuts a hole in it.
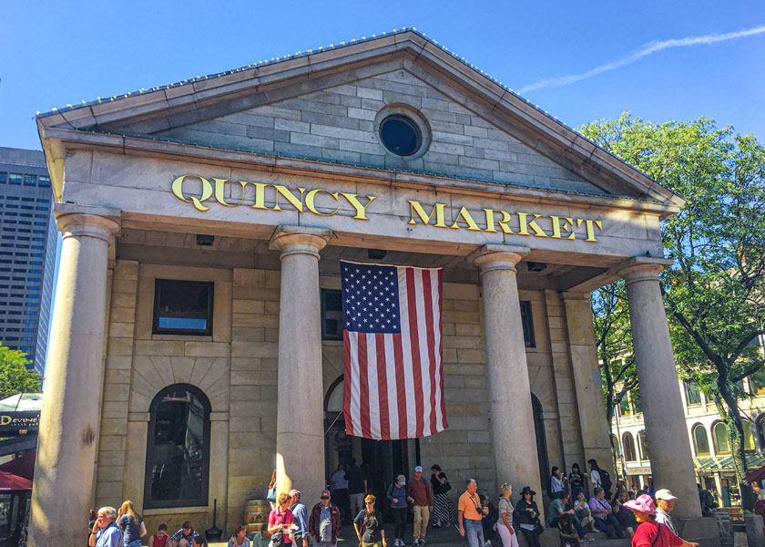
[{"label": "gold QUINCY MARKET lettering on the stone beam", "polygon": [[[184,187],[185,185],[185,187]],[[322,188],[307,190],[290,189],[281,184],[265,182],[230,181],[212,178],[210,181],[199,175],[181,175],[172,182],[173,195],[180,201],[194,205],[197,211],[208,211],[212,203],[224,207],[250,207],[269,211],[311,212],[319,216],[336,214],[349,216],[357,221],[370,220],[367,209],[376,196],[362,196],[345,191],[329,191]],[[238,200],[237,200],[238,196]],[[270,204],[273,204],[270,206]],[[597,243],[596,233],[602,232],[603,224],[594,219],[535,212],[507,212],[502,209],[484,208],[468,210],[464,206],[452,205],[456,211],[454,221],[446,221],[446,203],[425,205],[419,201],[407,200],[409,224],[422,223],[433,228],[463,229],[469,232],[503,232],[532,237],[549,237],[559,240],[580,239]],[[344,209],[341,209],[345,205]],[[350,207],[349,207],[350,206]],[[426,208],[430,209],[427,211]],[[517,226],[513,230],[510,226]]]}]

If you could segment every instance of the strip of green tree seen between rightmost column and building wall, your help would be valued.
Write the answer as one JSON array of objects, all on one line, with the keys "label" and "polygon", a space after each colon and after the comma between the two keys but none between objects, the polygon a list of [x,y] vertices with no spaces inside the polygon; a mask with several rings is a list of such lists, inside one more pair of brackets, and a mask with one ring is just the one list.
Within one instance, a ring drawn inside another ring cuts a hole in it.
[{"label": "strip of green tree seen between rightmost column and building wall", "polygon": [[595,326],[597,357],[606,403],[606,419],[611,433],[611,454],[614,469],[620,471],[624,462],[617,461],[614,446],[613,418],[616,409],[637,389],[637,371],[632,355],[632,331],[624,282],[608,284],[592,295],[592,319]]}]

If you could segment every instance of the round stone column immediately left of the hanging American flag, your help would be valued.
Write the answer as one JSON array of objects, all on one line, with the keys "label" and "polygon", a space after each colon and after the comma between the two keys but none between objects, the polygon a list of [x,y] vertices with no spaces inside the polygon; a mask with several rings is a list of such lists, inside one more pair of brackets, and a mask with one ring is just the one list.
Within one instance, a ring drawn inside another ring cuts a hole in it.
[{"label": "round stone column immediately left of the hanging American flag", "polygon": [[269,243],[281,252],[276,487],[301,490],[306,505],[325,484],[319,252],[330,236],[279,226]]}]

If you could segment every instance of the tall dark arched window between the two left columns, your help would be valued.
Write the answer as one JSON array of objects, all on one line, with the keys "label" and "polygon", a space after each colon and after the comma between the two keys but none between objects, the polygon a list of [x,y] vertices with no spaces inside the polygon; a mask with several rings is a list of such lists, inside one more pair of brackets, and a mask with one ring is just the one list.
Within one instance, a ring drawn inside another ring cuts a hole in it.
[{"label": "tall dark arched window between the two left columns", "polygon": [[209,400],[189,384],[165,387],[149,407],[144,508],[208,505]]}]

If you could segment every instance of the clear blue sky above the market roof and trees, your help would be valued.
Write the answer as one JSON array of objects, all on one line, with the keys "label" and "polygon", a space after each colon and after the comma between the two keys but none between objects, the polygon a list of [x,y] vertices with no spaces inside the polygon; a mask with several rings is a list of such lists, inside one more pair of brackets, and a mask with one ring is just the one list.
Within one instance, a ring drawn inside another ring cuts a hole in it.
[{"label": "clear blue sky above the market roof and trees", "polygon": [[[630,110],[656,122],[713,118],[765,140],[761,0],[29,0],[3,2],[0,20],[0,146],[39,149],[37,110],[402,26],[416,27],[509,87],[526,88],[525,98],[570,126]],[[733,37],[746,30],[748,36]],[[699,36],[707,37],[682,41]],[[594,70],[572,83],[535,87]]]}]

